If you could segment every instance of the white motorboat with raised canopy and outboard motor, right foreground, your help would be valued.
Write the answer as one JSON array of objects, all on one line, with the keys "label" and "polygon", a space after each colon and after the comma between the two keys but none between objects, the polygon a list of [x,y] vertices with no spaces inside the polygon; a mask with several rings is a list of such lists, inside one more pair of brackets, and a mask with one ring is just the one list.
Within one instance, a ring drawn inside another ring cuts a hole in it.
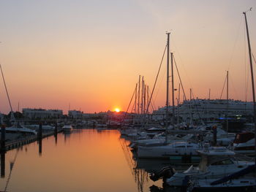
[{"label": "white motorboat with raised canopy and outboard motor, right foreground", "polygon": [[197,153],[201,156],[199,166],[190,166],[185,172],[176,172],[167,179],[168,185],[182,186],[187,178],[189,180],[217,180],[254,165],[252,161],[240,161],[235,158],[236,153],[225,147],[206,148],[198,150]]}]

